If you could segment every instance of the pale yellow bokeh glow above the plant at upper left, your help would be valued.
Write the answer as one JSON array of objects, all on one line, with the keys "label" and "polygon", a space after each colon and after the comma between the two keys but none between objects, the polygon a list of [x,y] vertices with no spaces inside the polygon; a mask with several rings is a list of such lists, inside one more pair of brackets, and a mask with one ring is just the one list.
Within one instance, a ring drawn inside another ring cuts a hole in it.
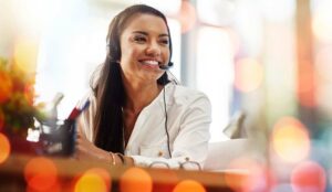
[{"label": "pale yellow bokeh glow above the plant at upper left", "polygon": [[35,41],[19,39],[14,44],[14,62],[17,66],[27,73],[34,73],[38,57],[38,44]]}]

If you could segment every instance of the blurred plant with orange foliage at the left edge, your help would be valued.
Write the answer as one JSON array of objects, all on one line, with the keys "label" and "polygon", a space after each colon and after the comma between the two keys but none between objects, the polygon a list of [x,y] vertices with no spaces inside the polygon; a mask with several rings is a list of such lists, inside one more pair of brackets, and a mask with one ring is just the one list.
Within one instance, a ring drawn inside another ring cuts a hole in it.
[{"label": "blurred plant with orange foliage at the left edge", "polygon": [[34,78],[35,74],[0,57],[0,132],[8,136],[15,152],[33,152],[27,141],[28,129],[42,116],[34,106]]}]

